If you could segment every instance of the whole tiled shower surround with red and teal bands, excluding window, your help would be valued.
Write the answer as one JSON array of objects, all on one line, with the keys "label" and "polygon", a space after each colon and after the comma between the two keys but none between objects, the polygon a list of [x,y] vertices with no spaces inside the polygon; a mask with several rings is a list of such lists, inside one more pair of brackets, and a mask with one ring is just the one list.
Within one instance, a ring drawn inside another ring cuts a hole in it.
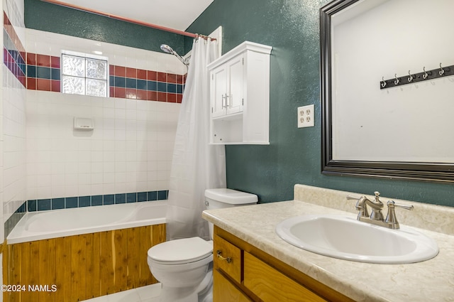
[{"label": "whole tiled shower surround with red and teal bands, excluding window", "polygon": [[[29,30],[10,19],[6,11],[0,167],[7,180],[0,196],[11,223],[5,225],[13,227],[23,210],[167,198],[186,66],[173,55]],[[61,50],[102,51],[110,97],[60,93]],[[92,118],[94,130],[74,130],[74,117]]]}]

